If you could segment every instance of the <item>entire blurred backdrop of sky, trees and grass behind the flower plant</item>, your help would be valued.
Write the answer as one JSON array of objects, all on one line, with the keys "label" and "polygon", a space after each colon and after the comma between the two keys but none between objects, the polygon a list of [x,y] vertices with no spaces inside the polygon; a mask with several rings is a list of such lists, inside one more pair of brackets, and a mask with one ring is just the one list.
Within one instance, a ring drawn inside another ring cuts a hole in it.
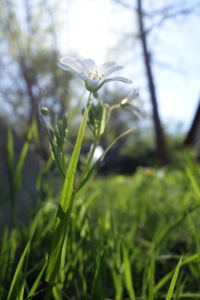
[{"label": "entire blurred backdrop of sky, trees and grass behind the flower plant", "polygon": [[[67,132],[66,166],[89,94],[82,80],[57,66],[63,56],[92,58],[97,67],[107,60],[124,65],[115,75],[133,85],[106,83],[99,100],[119,104],[139,87],[143,118],[112,111],[100,137],[104,150],[124,131],[135,130],[108,151],[100,176],[76,197],[64,246],[66,267],[62,256],[54,299],[63,299],[62,288],[71,299],[80,299],[77,287],[81,299],[91,299],[96,266],[101,266],[95,257],[100,259],[105,245],[109,272],[102,287],[107,298],[128,299],[126,282],[132,279],[126,274],[132,272],[136,297],[142,293],[147,299],[148,289],[149,295],[153,291],[154,249],[156,293],[159,282],[159,289],[165,284],[158,298],[168,291],[163,278],[170,279],[182,254],[189,260],[174,297],[184,292],[199,298],[199,49],[200,0],[0,0],[0,300],[8,299],[16,262],[33,228],[31,255],[23,268],[26,278],[30,275],[26,285],[22,276],[26,295],[50,249],[63,178],[52,163],[39,106],[48,108],[52,126],[76,111]],[[78,171],[93,142],[87,128]]]}]

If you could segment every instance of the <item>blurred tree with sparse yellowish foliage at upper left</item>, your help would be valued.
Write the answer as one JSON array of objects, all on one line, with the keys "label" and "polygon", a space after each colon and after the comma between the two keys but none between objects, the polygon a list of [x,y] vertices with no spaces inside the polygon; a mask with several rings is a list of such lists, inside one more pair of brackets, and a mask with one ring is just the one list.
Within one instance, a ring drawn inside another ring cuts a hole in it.
[{"label": "blurred tree with sparse yellowish foliage at upper left", "polygon": [[21,132],[33,115],[39,121],[39,105],[52,119],[69,105],[73,74],[57,67],[53,9],[52,1],[0,0],[0,99]]}]

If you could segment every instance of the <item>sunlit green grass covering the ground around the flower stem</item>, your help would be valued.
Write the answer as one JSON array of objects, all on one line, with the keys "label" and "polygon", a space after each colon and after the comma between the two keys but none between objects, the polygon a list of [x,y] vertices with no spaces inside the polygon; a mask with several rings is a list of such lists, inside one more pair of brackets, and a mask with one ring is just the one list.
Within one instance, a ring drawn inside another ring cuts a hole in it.
[{"label": "sunlit green grass covering the ground around the flower stem", "polygon": [[[54,178],[41,180],[29,228],[4,231],[0,299],[14,299],[16,283],[24,289],[19,299],[44,299],[60,193],[52,196]],[[199,183],[189,155],[162,170],[88,182],[75,198],[52,299],[199,299]]]}]

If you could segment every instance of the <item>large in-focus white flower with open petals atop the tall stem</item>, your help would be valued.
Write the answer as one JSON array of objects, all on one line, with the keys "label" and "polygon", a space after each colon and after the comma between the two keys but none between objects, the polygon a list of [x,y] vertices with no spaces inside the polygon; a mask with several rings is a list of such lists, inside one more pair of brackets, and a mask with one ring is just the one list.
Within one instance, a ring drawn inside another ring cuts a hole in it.
[{"label": "large in-focus white flower with open petals atop the tall stem", "polygon": [[85,87],[90,92],[97,92],[104,83],[109,81],[122,81],[127,84],[132,84],[132,81],[125,77],[111,77],[108,76],[124,66],[116,65],[114,61],[107,61],[97,69],[95,62],[91,59],[82,60],[80,58],[72,58],[70,56],[64,56],[60,59],[61,63],[58,63],[59,67],[64,70],[76,73],[76,75],[83,79]]}]

